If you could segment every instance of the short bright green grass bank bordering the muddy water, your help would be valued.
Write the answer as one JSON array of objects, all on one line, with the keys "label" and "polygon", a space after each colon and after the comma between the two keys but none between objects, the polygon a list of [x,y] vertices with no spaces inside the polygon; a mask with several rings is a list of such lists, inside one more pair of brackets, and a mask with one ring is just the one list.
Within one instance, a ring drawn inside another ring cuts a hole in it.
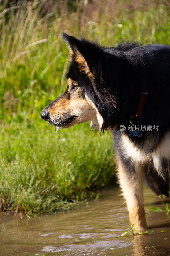
[{"label": "short bright green grass bank bordering the muddy water", "polygon": [[1,211],[39,213],[95,196],[114,174],[111,136],[88,124],[59,130],[21,124],[1,130]]}]

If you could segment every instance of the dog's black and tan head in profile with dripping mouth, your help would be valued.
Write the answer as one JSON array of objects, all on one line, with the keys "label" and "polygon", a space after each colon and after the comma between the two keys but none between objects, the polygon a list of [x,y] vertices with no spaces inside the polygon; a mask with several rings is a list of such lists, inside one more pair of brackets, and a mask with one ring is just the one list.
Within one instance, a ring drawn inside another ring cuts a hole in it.
[{"label": "dog's black and tan head in profile with dripping mouth", "polygon": [[108,117],[115,111],[115,93],[109,87],[113,74],[107,69],[110,53],[85,39],[65,33],[63,38],[71,58],[67,89],[41,112],[41,117],[57,128],[91,121],[93,128],[107,129],[113,123]]}]

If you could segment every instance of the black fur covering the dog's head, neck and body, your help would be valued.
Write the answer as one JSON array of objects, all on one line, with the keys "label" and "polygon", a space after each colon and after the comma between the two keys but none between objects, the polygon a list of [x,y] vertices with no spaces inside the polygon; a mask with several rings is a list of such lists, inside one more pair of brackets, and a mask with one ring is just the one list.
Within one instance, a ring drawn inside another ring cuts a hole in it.
[{"label": "black fur covering the dog's head, neck and body", "polygon": [[[142,132],[131,142],[144,154],[153,152],[165,133],[170,130],[170,46],[142,45],[137,42],[101,47],[85,39],[63,34],[72,49],[72,62],[67,77],[77,81],[103,117],[102,131],[114,129],[115,148],[122,155],[120,124],[128,127],[137,110],[140,93],[145,84],[148,96],[139,125],[159,125],[158,132]],[[75,54],[83,55],[95,79],[79,71]],[[129,136],[129,132],[125,131]],[[163,161],[163,160],[162,160]],[[133,169],[133,168],[132,168]],[[165,168],[166,169],[166,168]],[[167,168],[168,169],[168,168]],[[144,180],[157,194],[168,196],[169,174],[164,179],[154,168],[145,170]]]}]

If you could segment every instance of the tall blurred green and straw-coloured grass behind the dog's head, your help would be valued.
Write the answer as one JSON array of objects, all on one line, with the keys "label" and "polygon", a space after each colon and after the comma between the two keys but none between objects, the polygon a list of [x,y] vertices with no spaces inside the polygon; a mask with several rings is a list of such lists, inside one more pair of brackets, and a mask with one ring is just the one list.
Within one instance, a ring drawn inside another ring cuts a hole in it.
[{"label": "tall blurred green and straw-coloured grass behind the dog's head", "polygon": [[74,12],[67,1],[54,1],[44,17],[42,2],[48,1],[26,2],[0,14],[0,120],[5,122],[37,120],[64,91],[64,31],[104,46],[125,40],[170,44],[168,1],[73,1]]}]

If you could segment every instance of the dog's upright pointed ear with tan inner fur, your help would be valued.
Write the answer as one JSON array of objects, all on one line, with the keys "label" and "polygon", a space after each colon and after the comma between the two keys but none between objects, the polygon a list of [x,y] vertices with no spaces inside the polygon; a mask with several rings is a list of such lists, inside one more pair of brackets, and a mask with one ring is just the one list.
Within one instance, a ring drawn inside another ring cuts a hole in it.
[{"label": "dog's upright pointed ear with tan inner fur", "polygon": [[85,60],[85,50],[87,51],[87,49],[85,49],[83,42],[66,33],[62,35],[69,48],[71,59],[74,59],[78,64],[79,71],[85,73],[89,78],[94,79],[94,75],[89,68],[89,63]]}]

